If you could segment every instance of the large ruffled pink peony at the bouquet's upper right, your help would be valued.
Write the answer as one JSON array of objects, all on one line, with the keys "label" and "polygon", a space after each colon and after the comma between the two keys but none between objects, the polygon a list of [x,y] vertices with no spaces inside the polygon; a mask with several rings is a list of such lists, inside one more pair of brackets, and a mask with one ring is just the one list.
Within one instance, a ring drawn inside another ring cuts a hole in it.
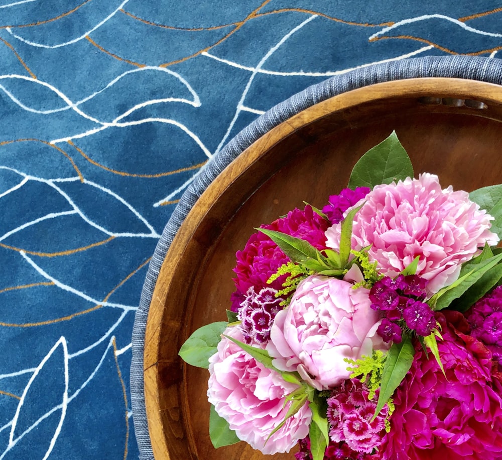
[{"label": "large ruffled pink peony at the bouquet's upper right", "polygon": [[[454,192],[451,186],[441,190],[433,174],[376,186],[365,200],[354,219],[352,249],[371,245],[370,261],[389,277],[420,256],[417,274],[429,280],[430,293],[453,283],[460,265],[485,242],[498,242],[489,230],[493,218],[467,192]],[[339,248],[340,226],[326,231],[326,244],[334,249]]]}]

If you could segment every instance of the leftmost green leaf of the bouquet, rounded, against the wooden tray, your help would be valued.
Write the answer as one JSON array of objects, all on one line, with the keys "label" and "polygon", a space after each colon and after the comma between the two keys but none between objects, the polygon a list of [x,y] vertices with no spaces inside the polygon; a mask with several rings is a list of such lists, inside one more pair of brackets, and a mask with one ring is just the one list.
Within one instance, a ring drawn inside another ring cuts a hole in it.
[{"label": "leftmost green leaf of the bouquet, rounded, against the wooden tray", "polygon": [[208,360],[216,353],[221,334],[227,325],[226,321],[218,321],[199,327],[188,337],[178,354],[186,363],[208,369]]}]

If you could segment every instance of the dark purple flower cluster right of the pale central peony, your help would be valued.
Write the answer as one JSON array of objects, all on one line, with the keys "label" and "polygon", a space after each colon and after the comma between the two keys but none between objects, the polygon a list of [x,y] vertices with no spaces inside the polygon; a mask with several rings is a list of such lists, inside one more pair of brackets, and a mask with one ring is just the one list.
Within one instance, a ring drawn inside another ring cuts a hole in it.
[{"label": "dark purple flower cluster right of the pale central peony", "polygon": [[[427,280],[418,275],[384,277],[369,292],[371,308],[384,314],[377,332],[386,341],[401,342],[402,325],[426,337],[436,326],[434,313],[423,302]],[[404,322],[404,324],[403,324]]]}]

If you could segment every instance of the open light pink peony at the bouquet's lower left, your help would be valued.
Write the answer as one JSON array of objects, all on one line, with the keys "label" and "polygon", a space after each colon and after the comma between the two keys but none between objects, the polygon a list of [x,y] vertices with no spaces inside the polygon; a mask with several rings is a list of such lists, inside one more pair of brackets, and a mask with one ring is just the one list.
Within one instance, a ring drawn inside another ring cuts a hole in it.
[{"label": "open light pink peony at the bouquet's lower left", "polygon": [[[228,327],[225,335],[243,341],[237,327]],[[224,418],[237,437],[266,454],[289,452],[309,432],[312,411],[308,403],[276,431],[291,402],[285,396],[298,388],[285,382],[281,375],[267,369],[223,337],[218,351],[209,358],[208,400]]]}]

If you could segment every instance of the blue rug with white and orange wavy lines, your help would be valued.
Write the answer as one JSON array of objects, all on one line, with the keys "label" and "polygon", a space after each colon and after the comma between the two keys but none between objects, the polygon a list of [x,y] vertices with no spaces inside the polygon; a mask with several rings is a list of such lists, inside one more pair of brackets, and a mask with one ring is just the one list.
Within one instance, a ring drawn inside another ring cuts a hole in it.
[{"label": "blue rug with white and orange wavy lines", "polygon": [[475,3],[0,0],[0,460],[137,458],[134,313],[194,175],[331,75],[499,57]]}]

